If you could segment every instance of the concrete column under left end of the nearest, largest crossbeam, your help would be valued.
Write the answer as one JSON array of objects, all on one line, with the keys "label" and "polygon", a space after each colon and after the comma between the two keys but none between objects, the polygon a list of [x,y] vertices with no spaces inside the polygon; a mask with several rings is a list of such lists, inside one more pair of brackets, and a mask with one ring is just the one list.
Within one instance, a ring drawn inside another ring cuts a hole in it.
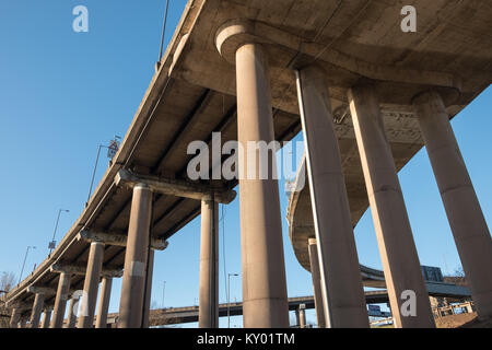
[{"label": "concrete column under left end of the nearest, largest crossbeam", "polygon": [[134,186],[125,255],[119,328],[141,328],[143,326],[151,212],[152,190],[142,184]]}]

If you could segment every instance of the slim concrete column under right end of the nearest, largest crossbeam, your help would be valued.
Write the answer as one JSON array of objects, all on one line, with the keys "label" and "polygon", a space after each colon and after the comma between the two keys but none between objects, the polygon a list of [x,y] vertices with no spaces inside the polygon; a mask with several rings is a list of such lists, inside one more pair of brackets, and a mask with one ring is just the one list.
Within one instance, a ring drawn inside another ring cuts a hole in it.
[{"label": "slim concrete column under right end of the nearest, largest crossbeam", "polygon": [[200,328],[219,328],[219,205],[201,201]]}]

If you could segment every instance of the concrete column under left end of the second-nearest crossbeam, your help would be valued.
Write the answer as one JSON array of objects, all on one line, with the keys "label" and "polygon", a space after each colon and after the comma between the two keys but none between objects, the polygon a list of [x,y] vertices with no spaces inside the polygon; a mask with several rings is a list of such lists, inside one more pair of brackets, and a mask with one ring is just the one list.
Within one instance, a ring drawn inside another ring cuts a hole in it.
[{"label": "concrete column under left end of the second-nearest crossbeam", "polygon": [[101,242],[92,242],[77,328],[94,327],[94,314],[97,303],[101,270],[103,269],[103,258],[104,244]]}]

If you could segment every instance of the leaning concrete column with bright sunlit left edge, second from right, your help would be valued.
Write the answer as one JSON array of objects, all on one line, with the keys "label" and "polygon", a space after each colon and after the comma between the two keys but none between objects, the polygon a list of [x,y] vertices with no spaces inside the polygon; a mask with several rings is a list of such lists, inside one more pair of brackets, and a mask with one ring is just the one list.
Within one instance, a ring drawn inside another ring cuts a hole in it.
[{"label": "leaning concrete column with bright sunlit left edge, second from right", "polygon": [[396,327],[435,327],[375,91],[359,85],[348,96]]}]

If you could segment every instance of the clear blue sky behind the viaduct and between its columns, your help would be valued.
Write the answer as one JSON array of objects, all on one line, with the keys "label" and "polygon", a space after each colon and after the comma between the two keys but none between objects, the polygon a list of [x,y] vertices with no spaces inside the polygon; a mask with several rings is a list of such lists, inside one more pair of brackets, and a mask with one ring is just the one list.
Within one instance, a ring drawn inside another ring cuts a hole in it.
[{"label": "clear blue sky behind the viaduct and between its columns", "polygon": [[[166,43],[185,0],[172,0]],[[84,4],[90,32],[72,31],[72,9]],[[25,272],[46,257],[58,209],[57,241],[83,209],[97,145],[125,136],[154,73],[164,0],[0,0],[0,272],[19,276],[27,245]],[[490,129],[492,90],[487,90],[453,121],[458,142],[487,221],[492,213]],[[298,139],[298,138],[297,138]],[[107,160],[102,159],[98,182]],[[457,269],[459,258],[424,151],[400,173],[401,186],[423,265]],[[283,189],[283,184],[280,184]],[[296,261],[288,238],[286,196],[281,192],[289,295],[312,294],[311,276]],[[238,202],[226,208],[227,272],[241,272]],[[153,304],[185,306],[198,300],[199,218],[171,240],[155,259]],[[221,224],[221,294],[225,283]],[[372,218],[355,230],[360,261],[380,268]],[[118,310],[120,281],[112,311]],[[232,300],[241,300],[241,279],[233,278]],[[308,320],[314,314],[308,313]],[[222,320],[224,322],[224,320]],[[234,325],[241,324],[239,319]]]}]

